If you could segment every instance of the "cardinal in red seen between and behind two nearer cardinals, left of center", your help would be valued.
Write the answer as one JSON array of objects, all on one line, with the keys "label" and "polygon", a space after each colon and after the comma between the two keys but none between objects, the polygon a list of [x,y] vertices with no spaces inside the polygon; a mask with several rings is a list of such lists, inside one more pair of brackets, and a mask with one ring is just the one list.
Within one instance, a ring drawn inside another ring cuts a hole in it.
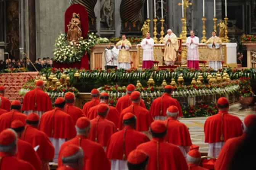
[{"label": "cardinal in red seen between and behind two nearer cardinals, left of center", "polygon": [[107,104],[100,104],[97,110],[98,116],[91,120],[91,132],[89,139],[101,144],[106,150],[107,142],[112,134],[117,132],[117,127],[112,121],[106,119],[109,112]]}]

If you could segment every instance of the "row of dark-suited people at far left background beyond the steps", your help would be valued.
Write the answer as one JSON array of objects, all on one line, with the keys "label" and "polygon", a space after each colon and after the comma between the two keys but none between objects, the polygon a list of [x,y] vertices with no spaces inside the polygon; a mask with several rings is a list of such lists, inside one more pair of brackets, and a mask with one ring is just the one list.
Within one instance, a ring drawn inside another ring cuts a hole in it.
[{"label": "row of dark-suited people at far left background beyond the steps", "polygon": [[[33,66],[34,65],[34,66]],[[27,68],[29,71],[40,71],[43,68],[46,67],[53,67],[53,60],[51,60],[49,57],[43,58],[38,58],[35,60],[35,62],[32,63],[30,62],[29,59],[23,58],[21,60],[11,60],[11,59],[6,59],[5,61],[0,60],[0,71],[8,68]]]}]

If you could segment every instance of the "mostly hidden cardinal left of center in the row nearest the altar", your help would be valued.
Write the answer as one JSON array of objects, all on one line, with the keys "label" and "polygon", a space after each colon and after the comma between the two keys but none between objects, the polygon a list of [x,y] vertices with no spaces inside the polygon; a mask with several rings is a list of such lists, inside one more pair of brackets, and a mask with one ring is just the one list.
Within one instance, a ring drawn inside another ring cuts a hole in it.
[{"label": "mostly hidden cardinal left of center in the row nearest the altar", "polygon": [[91,90],[91,101],[83,105],[83,114],[87,117],[89,109],[99,104],[99,90],[94,88]]}]

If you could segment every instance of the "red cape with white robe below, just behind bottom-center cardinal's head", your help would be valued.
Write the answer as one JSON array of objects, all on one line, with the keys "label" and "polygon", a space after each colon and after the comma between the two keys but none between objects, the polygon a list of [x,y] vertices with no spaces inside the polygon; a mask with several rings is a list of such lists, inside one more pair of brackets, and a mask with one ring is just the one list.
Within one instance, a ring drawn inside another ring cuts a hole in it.
[{"label": "red cape with white robe below, just behind bottom-center cardinal's head", "polygon": [[[124,140],[125,139],[125,145]],[[134,130],[131,126],[113,134],[107,143],[107,157],[109,159],[123,160],[123,153],[128,157],[129,153],[136,149],[141,143],[149,142],[149,137]]]}]

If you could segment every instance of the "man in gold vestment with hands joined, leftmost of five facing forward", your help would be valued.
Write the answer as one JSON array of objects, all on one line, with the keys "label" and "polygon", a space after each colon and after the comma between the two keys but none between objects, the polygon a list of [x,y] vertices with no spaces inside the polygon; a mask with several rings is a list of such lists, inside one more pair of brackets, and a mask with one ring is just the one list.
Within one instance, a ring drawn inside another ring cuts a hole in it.
[{"label": "man in gold vestment with hands joined, leftmost of five facing forward", "polygon": [[119,50],[118,54],[118,69],[130,69],[131,68],[131,42],[126,39],[125,35],[122,35],[122,40],[118,41],[115,45]]}]

